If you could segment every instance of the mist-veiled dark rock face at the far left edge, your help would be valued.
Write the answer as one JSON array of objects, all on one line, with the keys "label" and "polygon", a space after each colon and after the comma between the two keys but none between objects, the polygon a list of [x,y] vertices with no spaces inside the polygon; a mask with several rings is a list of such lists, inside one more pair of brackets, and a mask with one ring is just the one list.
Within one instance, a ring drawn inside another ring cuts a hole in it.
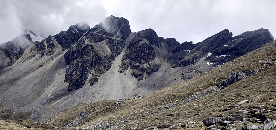
[{"label": "mist-veiled dark rock face at the far left edge", "polygon": [[24,53],[25,49],[33,42],[30,34],[24,34],[14,38],[12,41],[0,44],[0,50],[9,57],[7,66],[12,66]]}]

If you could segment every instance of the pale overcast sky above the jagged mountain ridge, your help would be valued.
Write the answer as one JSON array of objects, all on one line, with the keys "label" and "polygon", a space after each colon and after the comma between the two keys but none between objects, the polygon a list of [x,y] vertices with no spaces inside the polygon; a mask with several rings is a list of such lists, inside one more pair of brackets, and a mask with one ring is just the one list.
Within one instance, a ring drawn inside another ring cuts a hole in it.
[{"label": "pale overcast sky above the jagged mountain ridge", "polygon": [[0,0],[0,43],[24,29],[48,37],[83,21],[92,28],[110,15],[128,19],[132,32],[151,28],[180,43],[223,29],[236,36],[265,28],[275,38],[275,7],[276,0]]}]

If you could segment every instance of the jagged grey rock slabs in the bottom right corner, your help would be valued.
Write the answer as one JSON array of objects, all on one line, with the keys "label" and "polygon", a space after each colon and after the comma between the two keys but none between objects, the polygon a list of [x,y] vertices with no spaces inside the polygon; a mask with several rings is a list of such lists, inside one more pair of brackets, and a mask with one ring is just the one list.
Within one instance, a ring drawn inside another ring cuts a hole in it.
[{"label": "jagged grey rock slabs in the bottom right corner", "polygon": [[[247,100],[248,101],[248,100]],[[241,101],[240,103],[244,103]],[[239,104],[239,103],[238,103]],[[238,106],[238,105],[237,105]],[[276,114],[275,109],[264,109],[266,105],[251,106],[243,110],[238,110],[227,117],[213,117],[202,120],[203,124],[207,126],[205,130],[219,129],[234,129],[235,123],[248,124],[243,127],[243,130],[271,130],[276,128],[276,121],[267,118],[266,115]],[[262,124],[255,125],[254,123]],[[231,124],[231,125],[230,125]]]}]

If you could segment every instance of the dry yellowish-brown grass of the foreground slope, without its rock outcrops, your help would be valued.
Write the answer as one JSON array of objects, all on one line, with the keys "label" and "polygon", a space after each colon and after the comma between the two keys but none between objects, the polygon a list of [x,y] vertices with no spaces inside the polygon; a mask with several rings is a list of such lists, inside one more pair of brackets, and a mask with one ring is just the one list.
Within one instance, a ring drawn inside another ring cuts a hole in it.
[{"label": "dry yellowish-brown grass of the foreground slope, without its rock outcrops", "polygon": [[[237,110],[252,105],[267,105],[266,109],[273,109],[276,101],[271,102],[270,100],[276,99],[276,96],[270,91],[276,90],[276,64],[271,61],[271,59],[276,57],[275,42],[270,42],[264,47],[210,70],[205,74],[156,91],[143,98],[123,99],[122,103],[117,106],[113,106],[115,101],[86,104],[84,108],[84,105],[76,105],[59,112],[50,118],[48,123],[66,126],[70,121],[75,120],[81,111],[84,111],[88,116],[83,118],[83,124],[78,124],[76,128],[100,127],[103,124],[108,124],[107,126],[109,127],[107,128],[113,127],[112,129],[149,129],[164,124],[171,124],[175,125],[175,128],[181,128],[180,123],[188,124],[190,121],[196,121],[197,124],[188,125],[186,129],[205,129],[206,126],[202,123],[202,120],[216,115],[225,114],[225,116],[228,116]],[[203,91],[210,86],[216,85],[219,81],[227,79],[230,73],[243,70],[259,70],[259,73],[233,83],[218,92],[209,92],[203,98],[164,111],[157,109],[158,106],[183,101],[184,98],[193,96],[196,92]],[[249,103],[221,112],[229,105],[243,100],[249,100]],[[156,113],[149,114],[150,112]],[[174,115],[167,116],[171,113]],[[276,119],[276,115],[270,115],[269,118]],[[242,126],[236,125],[237,128]]]}]

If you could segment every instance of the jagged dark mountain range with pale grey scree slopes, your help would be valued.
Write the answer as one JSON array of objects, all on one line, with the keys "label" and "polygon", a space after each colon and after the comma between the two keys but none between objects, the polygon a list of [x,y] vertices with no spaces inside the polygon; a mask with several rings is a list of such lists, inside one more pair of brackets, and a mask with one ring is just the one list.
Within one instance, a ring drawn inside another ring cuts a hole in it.
[{"label": "jagged dark mountain range with pale grey scree slopes", "polygon": [[33,42],[30,34],[19,37],[26,43],[15,38],[0,44],[0,110],[23,112],[35,121],[79,103],[158,90],[168,94],[168,87],[198,79],[274,40],[267,29],[234,37],[225,29],[197,44],[180,44],[153,29],[132,33],[128,20],[114,16],[91,29],[85,22],[72,25],[41,41]]}]

